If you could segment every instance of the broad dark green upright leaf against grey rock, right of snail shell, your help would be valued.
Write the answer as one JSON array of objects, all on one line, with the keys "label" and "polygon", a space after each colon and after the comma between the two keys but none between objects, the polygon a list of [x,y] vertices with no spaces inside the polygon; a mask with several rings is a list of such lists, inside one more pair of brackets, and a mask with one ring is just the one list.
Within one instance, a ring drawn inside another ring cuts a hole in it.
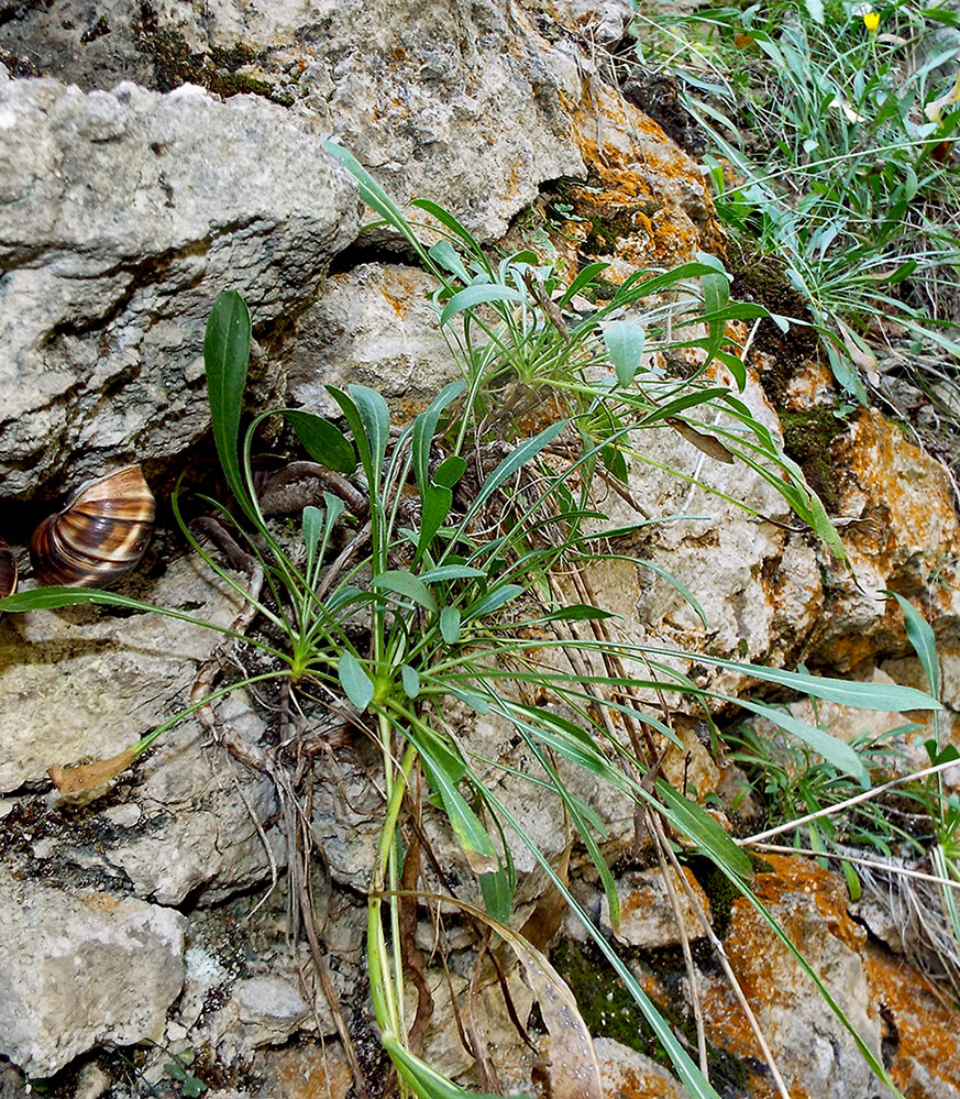
[{"label": "broad dark green upright leaf against grey rock, right of snail shell", "polygon": [[217,455],[231,492],[247,515],[252,513],[252,504],[240,471],[238,444],[250,361],[250,310],[243,298],[236,290],[224,290],[207,320],[203,367]]}]

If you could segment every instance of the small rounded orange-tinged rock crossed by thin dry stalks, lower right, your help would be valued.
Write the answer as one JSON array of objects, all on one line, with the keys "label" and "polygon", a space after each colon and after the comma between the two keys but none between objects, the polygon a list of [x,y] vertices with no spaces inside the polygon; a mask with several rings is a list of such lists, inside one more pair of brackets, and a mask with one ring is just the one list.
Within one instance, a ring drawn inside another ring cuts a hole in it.
[{"label": "small rounded orange-tinged rock crossed by thin dry stalks, lower right", "polygon": [[[667,871],[676,897],[677,911],[689,939],[702,938],[705,934],[693,901],[683,888],[675,870]],[[684,868],[687,887],[697,899],[699,910],[709,919],[709,901],[696,878]],[[641,949],[655,949],[661,946],[677,946],[681,943],[677,915],[667,892],[663,871],[632,870],[617,879],[617,895],[620,898],[620,928],[615,932],[610,924],[610,910],[606,897],[600,909],[600,926],[620,942]]]}]

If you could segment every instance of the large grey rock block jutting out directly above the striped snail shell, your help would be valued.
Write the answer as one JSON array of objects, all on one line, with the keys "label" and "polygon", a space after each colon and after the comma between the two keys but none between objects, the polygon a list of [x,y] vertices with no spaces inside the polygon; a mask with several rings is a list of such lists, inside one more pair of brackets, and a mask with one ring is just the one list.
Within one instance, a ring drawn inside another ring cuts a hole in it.
[{"label": "large grey rock block jutting out directly above the striped snail shell", "polygon": [[282,403],[289,319],[357,224],[309,125],[191,86],[55,80],[0,85],[0,496],[195,443],[203,328],[231,287],[272,361],[261,396]]}]

